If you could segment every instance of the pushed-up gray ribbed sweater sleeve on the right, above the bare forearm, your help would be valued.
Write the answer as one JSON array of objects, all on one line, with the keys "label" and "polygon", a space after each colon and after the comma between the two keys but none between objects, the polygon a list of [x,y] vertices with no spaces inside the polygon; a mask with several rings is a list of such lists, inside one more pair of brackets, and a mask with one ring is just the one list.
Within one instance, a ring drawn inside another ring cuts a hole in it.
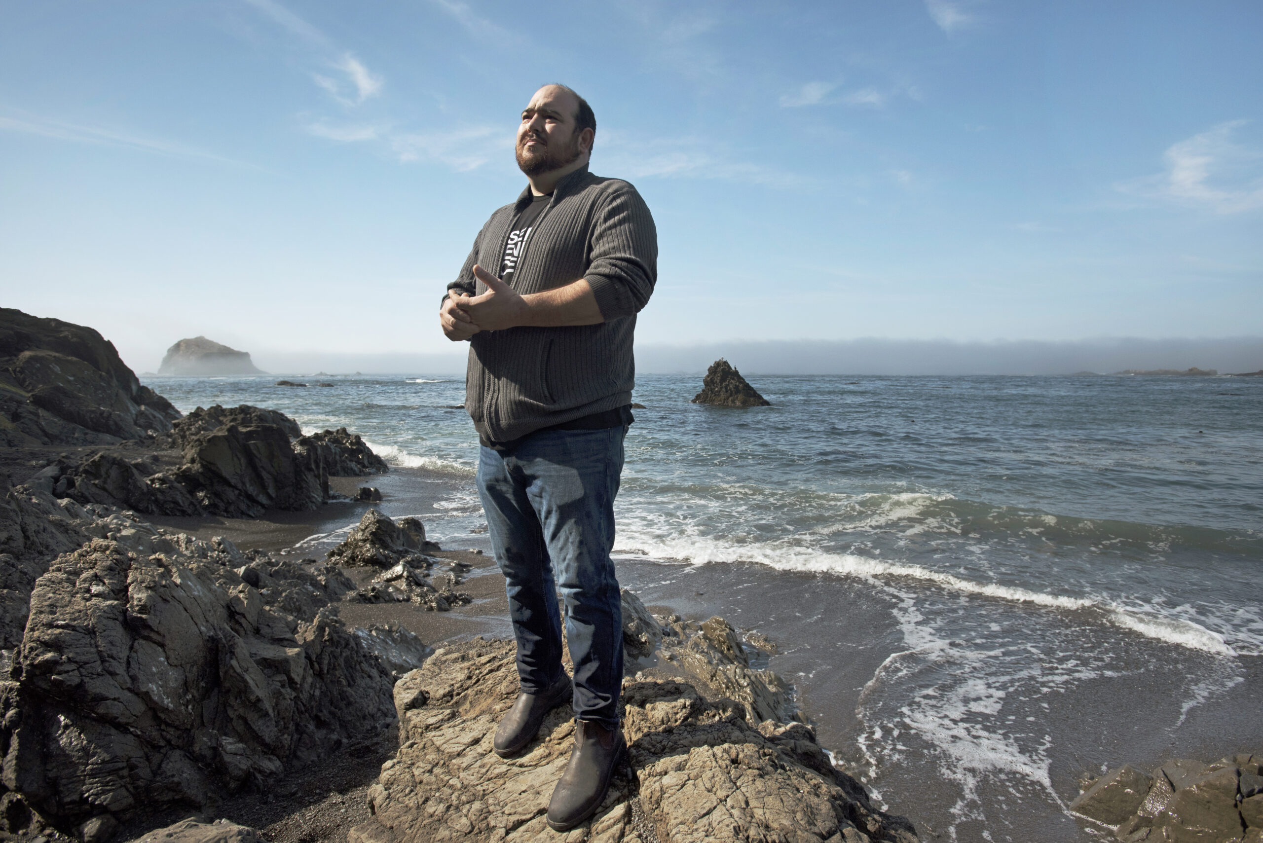
[{"label": "pushed-up gray ribbed sweater sleeve on the right, above the bare forearm", "polygon": [[605,321],[635,315],[658,280],[658,231],[634,187],[611,193],[596,209],[591,262],[584,274]]}]

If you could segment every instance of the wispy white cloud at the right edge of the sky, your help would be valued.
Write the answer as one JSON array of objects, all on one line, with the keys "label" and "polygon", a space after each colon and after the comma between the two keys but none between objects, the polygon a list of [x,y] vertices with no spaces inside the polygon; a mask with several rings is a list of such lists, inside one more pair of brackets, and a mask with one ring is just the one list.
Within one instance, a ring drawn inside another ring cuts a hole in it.
[{"label": "wispy white cloud at the right edge of the sky", "polygon": [[1218,126],[1167,149],[1167,169],[1122,182],[1115,188],[1147,199],[1240,213],[1263,207],[1263,150],[1238,144],[1234,133],[1245,120]]}]

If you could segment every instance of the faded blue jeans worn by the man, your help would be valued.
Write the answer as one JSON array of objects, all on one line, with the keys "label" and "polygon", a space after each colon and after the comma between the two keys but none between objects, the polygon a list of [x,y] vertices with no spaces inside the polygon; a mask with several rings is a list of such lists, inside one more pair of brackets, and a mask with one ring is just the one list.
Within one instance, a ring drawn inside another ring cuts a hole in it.
[{"label": "faded blue jeans worn by the man", "polygon": [[538,694],[561,679],[561,592],[575,716],[606,727],[618,724],[623,683],[623,606],[610,550],[624,435],[621,425],[542,430],[512,451],[484,445],[477,467],[522,690]]}]

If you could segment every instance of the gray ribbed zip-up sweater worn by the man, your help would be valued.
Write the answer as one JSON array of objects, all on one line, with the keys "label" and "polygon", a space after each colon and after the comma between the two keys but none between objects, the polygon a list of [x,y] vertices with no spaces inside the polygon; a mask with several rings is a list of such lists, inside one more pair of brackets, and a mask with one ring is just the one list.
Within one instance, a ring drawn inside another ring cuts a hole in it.
[{"label": "gray ribbed zip-up sweater worn by the man", "polygon": [[[529,187],[491,215],[448,289],[486,292],[474,278],[474,264],[499,271],[513,217],[528,202]],[[509,442],[629,404],[635,385],[635,314],[653,293],[657,266],[658,233],[634,187],[586,168],[558,182],[510,284],[528,294],[587,279],[605,322],[474,334],[465,409],[477,432]]]}]

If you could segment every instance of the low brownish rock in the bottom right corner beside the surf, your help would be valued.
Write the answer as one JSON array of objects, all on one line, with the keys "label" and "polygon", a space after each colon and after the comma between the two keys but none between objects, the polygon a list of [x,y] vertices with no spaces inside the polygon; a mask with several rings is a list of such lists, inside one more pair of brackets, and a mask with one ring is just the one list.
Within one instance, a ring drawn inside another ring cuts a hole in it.
[{"label": "low brownish rock in the bottom right corner beside the surf", "polygon": [[1176,758],[1152,772],[1124,765],[1089,782],[1070,810],[1125,843],[1260,843],[1260,761],[1248,753],[1214,763]]}]

